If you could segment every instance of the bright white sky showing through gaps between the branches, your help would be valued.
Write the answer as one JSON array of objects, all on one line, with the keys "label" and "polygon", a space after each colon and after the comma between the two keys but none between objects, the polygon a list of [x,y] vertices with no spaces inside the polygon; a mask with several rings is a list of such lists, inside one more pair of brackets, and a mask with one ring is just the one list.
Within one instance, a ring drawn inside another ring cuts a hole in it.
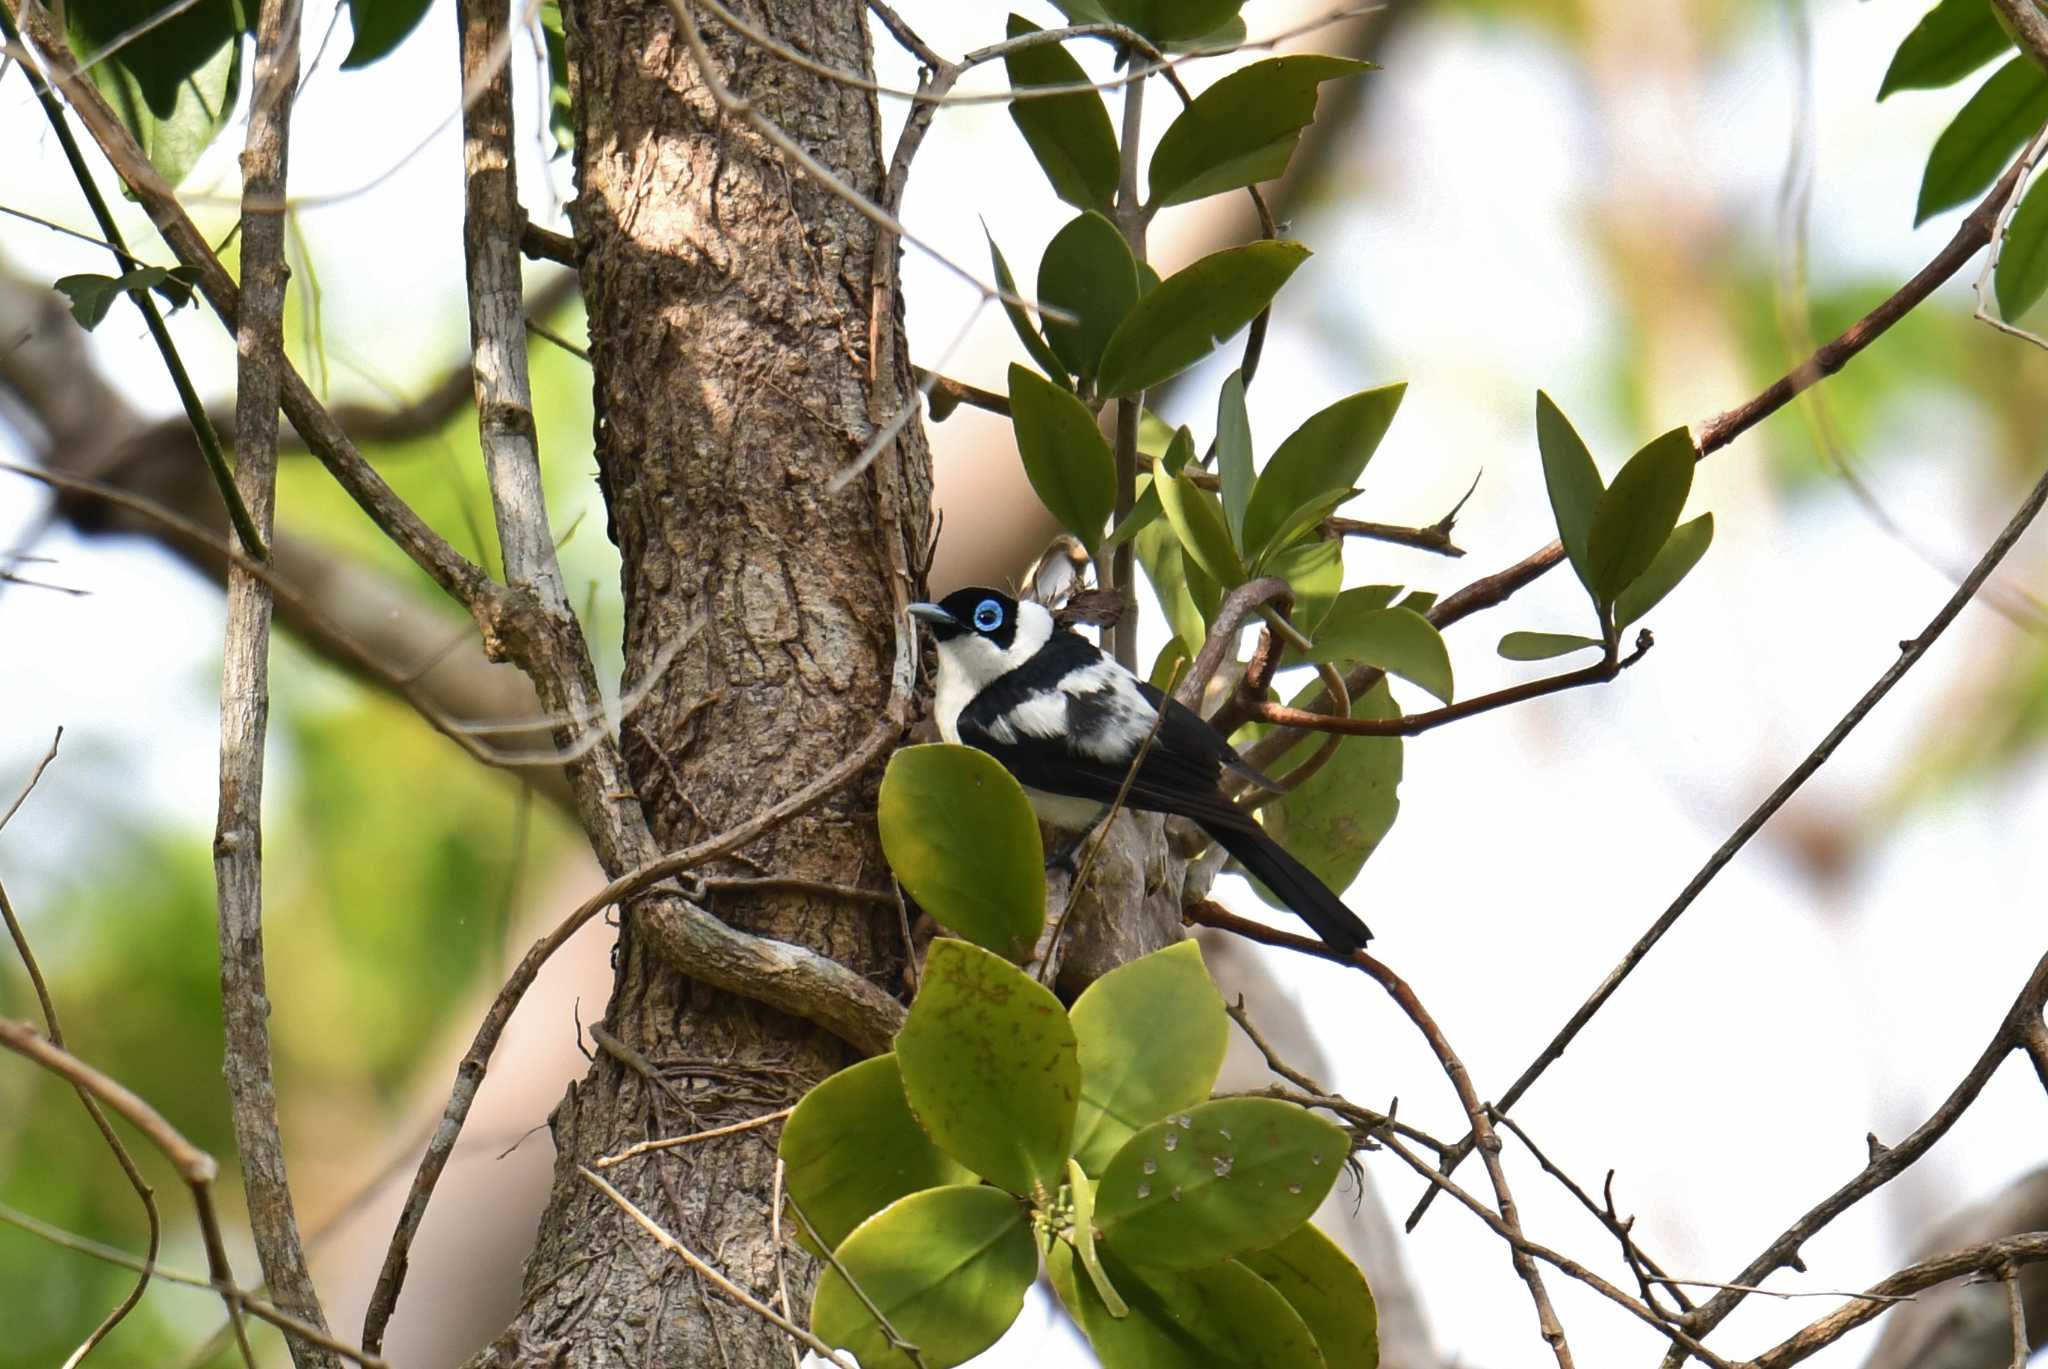
[{"label": "bright white sky showing through gaps between the branches", "polygon": [[[1954,215],[1917,234],[1909,221],[1919,160],[1956,96],[1870,100],[1890,47],[1921,8],[1923,0],[1812,6],[1817,285],[1872,273],[1903,281],[1952,232]],[[903,10],[942,51],[993,33],[993,6],[926,0]],[[1280,27],[1282,10],[1280,0],[1253,0],[1251,31]],[[315,6],[315,20],[326,12]],[[1053,18],[1044,4],[1026,12]],[[346,25],[336,47],[344,37]],[[451,47],[453,23],[436,10],[424,39],[385,66],[350,78],[324,70],[295,127],[295,191],[358,186],[449,115]],[[1380,55],[1386,70],[1366,78],[1378,82],[1372,121],[1339,170],[1339,184],[1358,186],[1362,199],[1335,217],[1305,213],[1294,223],[1317,256],[1282,297],[1251,391],[1253,430],[1270,451],[1329,400],[1409,379],[1360,516],[1427,521],[1475,471],[1485,469],[1485,480],[1458,529],[1473,549],[1464,564],[1354,547],[1354,566],[1370,564],[1374,580],[1409,576],[1448,590],[1466,572],[1505,566],[1546,541],[1532,437],[1538,385],[1565,404],[1610,473],[1649,437],[1626,430],[1608,408],[1616,387],[1604,367],[1618,365],[1632,338],[1591,238],[1595,209],[1618,195],[1655,209],[1659,195],[1683,189],[1688,203],[1710,205],[1724,221],[1722,250],[1765,252],[1792,121],[1788,51],[1780,10],[1757,6],[1755,31],[1710,68],[1704,88],[1673,92],[1647,74],[1620,102],[1602,102],[1540,33],[1423,12]],[[885,80],[913,80],[887,39],[879,55]],[[535,109],[530,70],[520,74],[522,109]],[[889,102],[885,111],[891,121],[901,115]],[[29,150],[10,164],[37,168],[8,178],[8,203],[84,225],[66,180],[49,170],[55,150],[18,76],[0,84],[0,146]],[[438,373],[459,348],[459,189],[446,174],[455,156],[457,139],[442,129],[377,195],[301,217],[328,285],[336,389],[356,387],[348,365],[406,389],[408,377]],[[526,170],[526,201],[539,211],[547,191]],[[193,184],[231,186],[231,158],[217,150]],[[948,113],[928,141],[905,217],[979,271],[977,215],[987,215],[1012,262],[1034,262],[1067,213],[1040,191],[1001,107],[975,107]],[[389,213],[399,199],[403,223]],[[225,217],[215,221],[225,225]],[[1159,244],[1171,258],[1169,221]],[[51,277],[100,268],[90,248],[14,221],[0,221],[0,254]],[[1026,264],[1018,271],[1030,277]],[[360,273],[375,273],[375,289],[348,287]],[[918,254],[905,260],[905,295],[911,350],[936,363],[973,295]],[[1958,307],[1958,297],[1952,287],[1942,299]],[[393,301],[406,301],[403,318],[391,316]],[[223,389],[229,348],[217,326],[186,314],[180,344],[199,359],[203,383]],[[98,346],[141,404],[172,408],[131,316],[117,312]],[[1008,326],[989,309],[946,369],[1001,387],[1014,352]],[[1747,393],[1741,377],[1712,367],[1653,375],[1649,385],[1661,426],[1704,418]],[[1890,504],[1909,510],[1915,533],[1968,562],[2009,510],[1956,498],[1946,471],[1976,457],[1964,439],[1982,416],[1952,400],[1942,400],[1939,424],[1917,416],[1933,402],[1901,396],[1896,420],[1878,426],[1890,439],[1858,455]],[[1198,430],[1208,422],[1202,412],[1180,418]],[[0,434],[0,449],[16,455],[10,441]],[[944,461],[948,428],[934,428],[934,443]],[[1845,496],[1774,504],[1757,465],[1757,447],[1739,443],[1702,467],[1692,510],[1714,510],[1720,535],[1694,580],[1651,615],[1659,646],[1638,670],[1604,691],[1409,744],[1403,818],[1350,898],[1483,1094],[1505,1088],[1950,592]],[[0,482],[0,547],[35,521],[39,500],[20,482]],[[569,516],[557,510],[557,527]],[[59,557],[51,578],[94,590],[86,600],[0,592],[10,662],[0,670],[0,777],[23,773],[49,732],[68,728],[66,764],[8,834],[10,877],[20,863],[53,879],[59,853],[119,838],[106,818],[193,830],[211,822],[219,598],[137,547],[59,535],[39,551]],[[2040,533],[2013,564],[2042,582]],[[1526,678],[1530,668],[1493,656],[1495,637],[1516,627],[1573,629],[1575,596],[1556,574],[1509,609],[1456,629],[1460,693]],[[2009,646],[2013,631],[1987,611],[1968,611],[1786,820],[1853,820],[1876,801],[1911,740],[1946,715],[1970,662]],[[1968,717],[1948,725],[1968,725]],[[289,783],[291,758],[281,754],[279,764]],[[106,812],[109,773],[127,777],[125,807],[115,814]],[[86,812],[100,820],[80,822]],[[1669,1269],[1731,1277],[1864,1164],[1866,1131],[1896,1139],[1917,1125],[1982,1049],[2042,951],[2048,855],[2042,842],[2015,840],[2040,830],[2048,830],[2048,764],[2036,758],[1909,818],[1845,885],[1812,885],[1765,834],[1518,1117],[1577,1176],[1597,1183],[1616,1168],[1620,1203],[1642,1215],[1638,1238]],[[1231,898],[1251,906],[1243,889]],[[1389,1002],[1333,967],[1286,961],[1284,973],[1323,1027],[1341,1092],[1372,1105],[1399,1096],[1405,1119],[1442,1135],[1462,1129],[1440,1070]],[[1929,1215],[2042,1164],[2044,1119],[2038,1084],[2007,1066],[1929,1160],[1806,1248],[1808,1277],[1782,1275],[1778,1287],[1860,1287],[1882,1277],[1907,1258]],[[1513,1144],[1509,1168],[1530,1234],[1612,1273],[1608,1238]],[[1374,1158],[1372,1172],[1405,1213],[1417,1183],[1391,1158]],[[1466,1176],[1479,1183],[1477,1166]],[[1440,1205],[1407,1240],[1407,1258],[1444,1349],[1481,1365],[1546,1361],[1526,1291],[1468,1215]],[[1552,1277],[1550,1287],[1581,1363],[1655,1355],[1657,1338],[1618,1310],[1565,1279]],[[1825,1303],[1753,1297],[1722,1332],[1722,1346],[1759,1351],[1819,1310]],[[1044,1322],[1026,1314],[987,1363],[1042,1363],[1042,1334]],[[1837,1351],[1833,1363],[1853,1363],[1858,1353]]]}]

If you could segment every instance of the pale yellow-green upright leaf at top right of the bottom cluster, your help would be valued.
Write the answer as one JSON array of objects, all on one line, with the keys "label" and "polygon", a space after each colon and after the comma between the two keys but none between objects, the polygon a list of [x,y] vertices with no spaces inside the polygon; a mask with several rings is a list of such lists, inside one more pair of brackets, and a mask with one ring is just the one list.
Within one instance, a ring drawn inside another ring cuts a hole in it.
[{"label": "pale yellow-green upright leaf at top right of the bottom cluster", "polygon": [[1081,1057],[1073,1154],[1083,1170],[1100,1174],[1133,1131],[1217,1086],[1231,1021],[1194,941],[1102,976],[1069,1017]]}]

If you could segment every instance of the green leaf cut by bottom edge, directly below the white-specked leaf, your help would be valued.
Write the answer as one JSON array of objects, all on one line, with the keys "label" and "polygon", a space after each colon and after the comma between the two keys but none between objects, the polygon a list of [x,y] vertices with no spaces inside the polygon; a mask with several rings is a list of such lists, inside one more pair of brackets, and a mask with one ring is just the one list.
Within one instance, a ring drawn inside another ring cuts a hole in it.
[{"label": "green leaf cut by bottom edge, directly below the white-specked leaf", "polygon": [[1356,1369],[1325,1367],[1300,1314],[1237,1260],[1190,1271],[1133,1267],[1108,1250],[1102,1260],[1130,1316],[1110,1316],[1067,1242],[1044,1264],[1106,1369]]}]

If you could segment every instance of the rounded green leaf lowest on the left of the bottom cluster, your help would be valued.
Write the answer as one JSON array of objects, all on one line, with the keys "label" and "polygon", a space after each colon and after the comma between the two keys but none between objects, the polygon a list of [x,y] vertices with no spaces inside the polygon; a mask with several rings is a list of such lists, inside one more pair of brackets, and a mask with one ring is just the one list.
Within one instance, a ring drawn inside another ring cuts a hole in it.
[{"label": "rounded green leaf lowest on the left of the bottom cluster", "polygon": [[1014,1197],[979,1185],[926,1189],[874,1213],[838,1248],[811,1301],[811,1332],[862,1369],[913,1369],[846,1281],[850,1275],[926,1369],[981,1355],[1024,1310],[1038,1277],[1030,1219]]}]

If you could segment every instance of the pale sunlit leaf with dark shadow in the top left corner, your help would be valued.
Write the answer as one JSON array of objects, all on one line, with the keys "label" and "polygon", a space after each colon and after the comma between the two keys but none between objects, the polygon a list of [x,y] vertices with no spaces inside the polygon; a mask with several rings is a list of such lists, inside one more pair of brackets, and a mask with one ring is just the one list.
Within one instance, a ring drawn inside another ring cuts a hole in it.
[{"label": "pale sunlit leaf with dark shadow in the top left corner", "polygon": [[[160,0],[86,0],[61,12],[86,78],[176,186],[236,113],[244,14],[233,0],[201,0],[170,18],[162,10]],[[100,55],[137,27],[143,37]]]}]

